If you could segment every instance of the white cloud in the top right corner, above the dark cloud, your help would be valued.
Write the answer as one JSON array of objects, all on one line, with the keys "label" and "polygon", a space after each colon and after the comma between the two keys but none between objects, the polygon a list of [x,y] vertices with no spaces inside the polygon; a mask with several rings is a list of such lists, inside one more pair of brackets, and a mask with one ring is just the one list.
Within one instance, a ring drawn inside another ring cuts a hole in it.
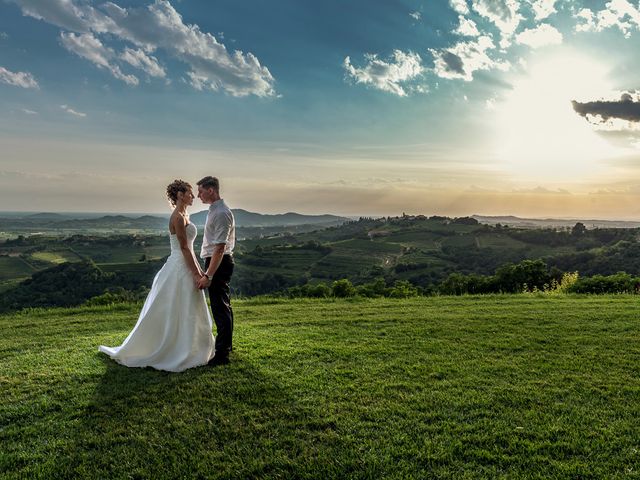
[{"label": "white cloud in the top right corner, above the dark cloud", "polygon": [[595,13],[583,8],[577,17],[581,22],[576,25],[578,32],[600,32],[605,28],[617,27],[629,38],[632,31],[640,29],[640,6],[635,7],[628,0],[611,0],[604,9]]}]

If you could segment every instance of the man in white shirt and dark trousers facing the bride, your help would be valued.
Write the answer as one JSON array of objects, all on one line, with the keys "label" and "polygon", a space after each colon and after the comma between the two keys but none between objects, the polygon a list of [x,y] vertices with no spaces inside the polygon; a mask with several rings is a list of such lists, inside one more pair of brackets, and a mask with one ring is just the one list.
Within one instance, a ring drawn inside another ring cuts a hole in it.
[{"label": "man in white shirt and dark trousers facing the bride", "polygon": [[200,250],[205,272],[198,281],[198,288],[209,290],[211,313],[216,322],[216,353],[209,365],[225,365],[229,363],[233,335],[229,281],[233,274],[235,221],[231,209],[220,198],[220,183],[216,177],[204,177],[198,182],[198,198],[209,204]]}]

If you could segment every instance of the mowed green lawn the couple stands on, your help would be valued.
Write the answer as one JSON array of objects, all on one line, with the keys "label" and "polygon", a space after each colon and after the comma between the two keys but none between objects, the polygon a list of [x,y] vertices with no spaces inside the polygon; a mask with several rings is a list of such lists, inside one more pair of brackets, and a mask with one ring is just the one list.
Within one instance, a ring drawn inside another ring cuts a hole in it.
[{"label": "mowed green lawn the couple stands on", "polygon": [[238,301],[232,363],[128,369],[137,305],[0,317],[2,478],[640,478],[634,296]]}]

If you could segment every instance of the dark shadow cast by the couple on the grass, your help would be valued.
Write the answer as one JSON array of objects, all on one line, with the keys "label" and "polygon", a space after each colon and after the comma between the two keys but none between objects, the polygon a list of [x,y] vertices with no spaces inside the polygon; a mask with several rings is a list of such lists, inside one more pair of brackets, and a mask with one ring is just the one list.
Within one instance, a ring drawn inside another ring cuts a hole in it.
[{"label": "dark shadow cast by the couple on the grass", "polygon": [[331,468],[318,453],[338,448],[335,425],[235,352],[231,365],[182,373],[101,360],[55,478],[311,478]]}]

